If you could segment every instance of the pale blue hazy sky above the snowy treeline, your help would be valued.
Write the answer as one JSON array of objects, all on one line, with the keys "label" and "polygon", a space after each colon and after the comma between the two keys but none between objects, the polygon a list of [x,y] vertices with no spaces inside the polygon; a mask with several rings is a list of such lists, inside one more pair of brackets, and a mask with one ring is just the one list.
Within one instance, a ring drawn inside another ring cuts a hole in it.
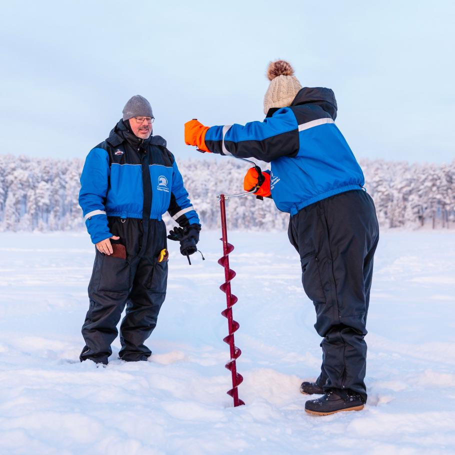
[{"label": "pale blue hazy sky above the snowy treeline", "polygon": [[450,1],[1,1],[0,153],[84,158],[139,93],[199,157],[183,123],[262,120],[284,58],[334,90],[358,158],[451,161],[454,23]]}]

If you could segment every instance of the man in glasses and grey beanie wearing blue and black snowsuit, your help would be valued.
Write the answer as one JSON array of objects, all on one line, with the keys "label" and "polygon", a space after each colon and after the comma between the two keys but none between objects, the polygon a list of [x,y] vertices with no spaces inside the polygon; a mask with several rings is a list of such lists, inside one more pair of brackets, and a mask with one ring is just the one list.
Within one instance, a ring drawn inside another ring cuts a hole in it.
[{"label": "man in glasses and grey beanie wearing blue and black snowsuit", "polygon": [[82,326],[80,361],[107,364],[120,325],[119,358],[147,360],[143,343],[156,325],[166,294],[166,211],[179,224],[180,251],[192,254],[200,223],[166,141],[152,136],[153,113],[131,97],[109,137],[92,148],[80,177],[79,205],[96,245]]}]

